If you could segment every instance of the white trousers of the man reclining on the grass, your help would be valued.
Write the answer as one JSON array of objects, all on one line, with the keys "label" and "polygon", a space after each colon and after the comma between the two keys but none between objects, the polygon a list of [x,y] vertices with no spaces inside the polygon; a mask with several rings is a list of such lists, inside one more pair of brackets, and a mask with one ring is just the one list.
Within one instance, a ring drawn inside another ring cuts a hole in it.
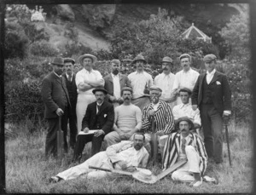
[{"label": "white trousers of the man reclining on the grass", "polygon": [[63,172],[59,173],[56,176],[59,176],[66,181],[66,180],[73,180],[79,177],[79,175],[83,175],[83,174],[87,174],[87,178],[89,179],[102,178],[107,176],[108,174],[111,174],[110,172],[106,172],[103,170],[89,169],[89,165],[102,167],[106,169],[113,169],[112,163],[110,162],[110,159],[108,158],[107,153],[98,152],[91,158],[84,161],[84,163],[81,163],[77,166],[64,170]]}]

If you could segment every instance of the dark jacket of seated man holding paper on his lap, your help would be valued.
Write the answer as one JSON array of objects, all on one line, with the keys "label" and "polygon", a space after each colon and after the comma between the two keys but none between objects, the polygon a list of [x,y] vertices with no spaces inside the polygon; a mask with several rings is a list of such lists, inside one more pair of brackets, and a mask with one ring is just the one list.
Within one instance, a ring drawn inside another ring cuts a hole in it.
[{"label": "dark jacket of seated man holding paper on his lap", "polygon": [[107,135],[113,129],[114,112],[113,105],[104,100],[100,111],[96,114],[96,101],[87,106],[85,116],[82,121],[82,130],[102,129]]}]

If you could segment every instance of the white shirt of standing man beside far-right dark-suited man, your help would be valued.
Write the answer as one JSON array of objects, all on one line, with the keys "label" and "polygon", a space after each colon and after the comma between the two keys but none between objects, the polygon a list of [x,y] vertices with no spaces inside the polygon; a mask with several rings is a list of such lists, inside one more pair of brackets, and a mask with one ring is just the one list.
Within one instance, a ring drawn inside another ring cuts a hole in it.
[{"label": "white shirt of standing man beside far-right dark-suited man", "polygon": [[177,72],[172,89],[188,88],[193,91],[198,76],[199,73],[191,68],[188,72],[184,72],[183,70]]}]

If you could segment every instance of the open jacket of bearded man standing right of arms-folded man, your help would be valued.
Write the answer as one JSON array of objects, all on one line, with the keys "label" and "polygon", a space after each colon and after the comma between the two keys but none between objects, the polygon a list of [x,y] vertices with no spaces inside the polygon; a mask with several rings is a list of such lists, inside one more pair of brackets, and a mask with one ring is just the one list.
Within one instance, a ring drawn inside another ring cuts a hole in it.
[{"label": "open jacket of bearded man standing right of arms-folded man", "polygon": [[[113,78],[111,74],[108,74],[107,76],[103,77],[105,81],[104,88],[108,91],[107,97],[109,98],[109,95],[113,95]],[[128,77],[124,74],[119,73],[119,82],[120,82],[120,89],[123,89],[124,87],[131,87],[131,82],[129,81]],[[110,101],[110,100],[109,100]]]}]

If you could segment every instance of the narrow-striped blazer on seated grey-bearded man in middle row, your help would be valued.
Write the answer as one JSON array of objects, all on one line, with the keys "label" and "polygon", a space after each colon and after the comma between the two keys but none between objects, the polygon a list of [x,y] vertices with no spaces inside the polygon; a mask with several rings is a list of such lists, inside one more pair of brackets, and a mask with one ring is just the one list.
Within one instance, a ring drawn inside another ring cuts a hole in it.
[{"label": "narrow-striped blazer on seated grey-bearded man in middle row", "polygon": [[[153,110],[152,104],[143,108],[143,130],[151,130],[151,122],[149,120],[149,111]],[[165,134],[170,134],[174,129],[174,118],[172,115],[172,108],[165,101],[160,100],[157,111],[154,115],[155,130],[163,130]]]}]

